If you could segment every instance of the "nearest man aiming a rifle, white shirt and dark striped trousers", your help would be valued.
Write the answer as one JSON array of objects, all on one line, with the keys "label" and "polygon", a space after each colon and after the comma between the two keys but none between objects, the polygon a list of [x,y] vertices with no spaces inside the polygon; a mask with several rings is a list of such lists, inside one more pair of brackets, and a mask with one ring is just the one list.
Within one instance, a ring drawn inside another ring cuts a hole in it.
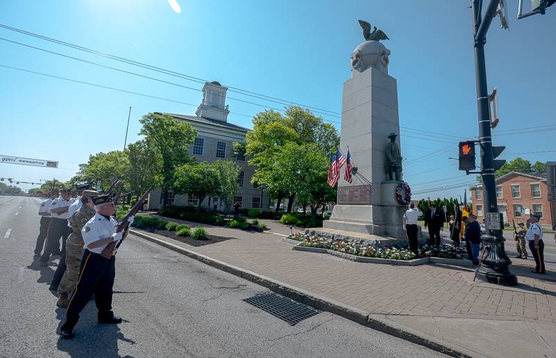
[{"label": "nearest man aiming a rifle, white shirt and dark striped trousers", "polygon": [[[110,259],[101,256],[108,243],[117,243],[122,239],[122,232],[116,232],[118,223],[112,216],[116,208],[111,195],[93,197],[92,202],[95,204],[96,214],[81,229],[84,248],[81,272],[72,299],[67,305],[66,321],[60,327],[60,336],[63,339],[74,337],[73,329],[79,320],[79,313],[93,293],[98,309],[98,322],[122,323],[122,318],[114,316],[112,311],[115,256]],[[133,216],[128,220],[133,222]]]}]

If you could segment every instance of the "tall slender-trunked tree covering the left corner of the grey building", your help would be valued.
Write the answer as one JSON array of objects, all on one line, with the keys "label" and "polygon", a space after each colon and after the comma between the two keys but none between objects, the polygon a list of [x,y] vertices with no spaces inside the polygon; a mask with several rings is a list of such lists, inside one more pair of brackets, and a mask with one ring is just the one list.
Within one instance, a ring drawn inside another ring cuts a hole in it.
[{"label": "tall slender-trunked tree covering the left corner of the grey building", "polygon": [[156,149],[161,158],[162,209],[166,206],[168,189],[172,187],[174,172],[180,165],[193,163],[188,154],[188,146],[197,131],[190,124],[179,122],[170,115],[149,113],[140,120],[140,134],[145,136],[147,145]]}]

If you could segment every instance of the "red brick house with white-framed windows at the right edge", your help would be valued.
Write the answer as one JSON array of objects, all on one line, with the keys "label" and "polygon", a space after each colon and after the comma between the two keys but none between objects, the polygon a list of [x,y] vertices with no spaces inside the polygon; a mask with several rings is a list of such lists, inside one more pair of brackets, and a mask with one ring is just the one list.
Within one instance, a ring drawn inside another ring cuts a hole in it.
[{"label": "red brick house with white-framed windows at the right edge", "polygon": [[[482,185],[471,187],[473,212],[477,220],[484,219]],[[498,210],[504,215],[504,222],[525,222],[532,213],[542,215],[540,224],[553,226],[548,202],[548,184],[543,174],[509,172],[496,179]]]}]

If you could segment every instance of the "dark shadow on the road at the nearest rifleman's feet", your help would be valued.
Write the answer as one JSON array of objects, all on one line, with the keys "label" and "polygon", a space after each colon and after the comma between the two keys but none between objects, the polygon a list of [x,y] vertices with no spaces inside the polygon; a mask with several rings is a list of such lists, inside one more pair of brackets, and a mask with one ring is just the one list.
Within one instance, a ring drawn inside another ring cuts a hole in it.
[{"label": "dark shadow on the road at the nearest rifleman's feet", "polygon": [[[89,302],[79,316],[79,322],[74,329],[74,339],[58,338],[56,343],[58,350],[67,352],[70,357],[133,358],[129,355],[120,356],[117,343],[124,341],[135,344],[135,341],[126,339],[118,325],[97,323],[97,307],[94,301]],[[58,324],[58,332],[60,332],[60,327],[65,321],[65,309],[56,309],[56,318],[60,320]],[[126,322],[129,321],[124,320],[121,324]]]}]

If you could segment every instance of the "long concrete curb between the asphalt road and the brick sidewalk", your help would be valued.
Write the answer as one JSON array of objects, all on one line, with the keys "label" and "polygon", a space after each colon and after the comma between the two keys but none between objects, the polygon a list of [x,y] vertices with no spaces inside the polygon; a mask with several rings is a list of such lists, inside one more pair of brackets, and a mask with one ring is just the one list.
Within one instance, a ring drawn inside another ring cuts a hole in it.
[{"label": "long concrete curb between the asphalt road and the brick sidewalk", "polygon": [[307,304],[315,309],[319,309],[320,311],[331,312],[332,314],[347,318],[348,320],[352,320],[356,323],[359,323],[360,325],[370,327],[371,329],[375,329],[379,332],[404,339],[405,341],[409,341],[411,343],[423,345],[424,347],[435,350],[436,352],[441,352],[451,357],[471,358],[477,355],[476,352],[470,352],[466,348],[457,346],[453,348],[454,345],[450,346],[447,342],[443,342],[422,332],[415,332],[409,327],[404,327],[398,323],[392,322],[391,320],[387,320],[386,318],[382,318],[378,315],[369,314],[357,308],[347,306],[346,304],[330,300],[328,298],[322,298],[319,295],[304,291],[301,288],[290,286],[275,279],[270,279],[269,277],[259,275],[255,272],[245,270],[243,268],[239,268],[237,266],[233,266],[228,263],[218,261],[216,259],[212,259],[211,257],[205,256],[204,254],[199,254],[179,245],[174,245],[173,243],[163,241],[159,238],[155,238],[154,236],[149,236],[141,231],[137,231],[135,229],[130,229],[129,231],[131,234],[137,236],[138,238],[143,238],[152,243],[156,243],[158,245],[166,247],[167,249],[170,249],[174,252],[184,254],[191,259],[195,259],[197,261],[205,263],[206,265],[212,266],[213,268],[218,268],[218,270],[228,272],[231,275],[247,279],[247,281],[268,288],[270,289],[270,291],[279,293],[280,295],[284,295],[288,298],[296,300],[297,302]]}]

